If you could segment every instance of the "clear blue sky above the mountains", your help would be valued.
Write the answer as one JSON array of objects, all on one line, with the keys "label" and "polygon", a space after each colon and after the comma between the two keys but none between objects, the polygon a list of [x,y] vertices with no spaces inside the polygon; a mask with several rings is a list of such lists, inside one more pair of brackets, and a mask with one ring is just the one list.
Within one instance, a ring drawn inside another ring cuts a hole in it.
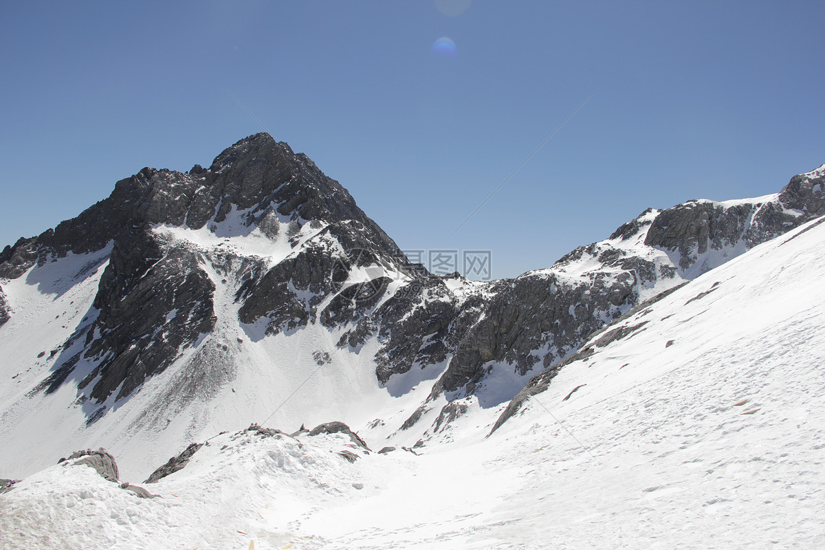
[{"label": "clear blue sky above the mountains", "polygon": [[0,247],[261,131],[227,90],[400,247],[497,277],[825,162],[825,2],[467,3],[5,2]]}]

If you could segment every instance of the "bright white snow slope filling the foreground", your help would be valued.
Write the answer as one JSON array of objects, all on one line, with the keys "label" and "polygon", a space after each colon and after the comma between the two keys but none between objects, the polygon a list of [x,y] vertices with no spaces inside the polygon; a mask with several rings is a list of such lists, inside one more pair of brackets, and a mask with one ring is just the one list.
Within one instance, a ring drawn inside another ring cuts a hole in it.
[{"label": "bright white snow slope filling the foreground", "polygon": [[[655,219],[648,223],[645,216],[639,229],[647,225],[649,236]],[[441,418],[447,422],[442,444],[376,453],[369,437],[365,443],[341,425],[292,435],[255,425],[215,431],[152,482],[130,472],[121,473],[120,484],[87,466],[95,457],[78,455],[0,496],[0,542],[4,548],[818,548],[825,540],[817,511],[825,507],[823,220],[753,245],[658,296],[648,285],[647,303],[586,338],[562,367],[533,378],[512,403],[455,399],[451,410],[463,414]],[[625,257],[643,250],[643,239],[621,237],[525,277],[562,281],[573,276],[575,261],[597,257],[600,247],[633,251]],[[648,260],[667,266],[667,257],[662,251]],[[678,280],[685,273],[679,269],[690,266],[676,262],[674,269]],[[18,289],[7,295],[19,303]],[[80,289],[73,297],[79,295]],[[98,422],[150,388],[144,384]],[[370,406],[379,404],[376,398]],[[100,458],[98,469],[111,473]],[[124,480],[139,487],[122,488]],[[139,498],[141,490],[154,497]]]}]

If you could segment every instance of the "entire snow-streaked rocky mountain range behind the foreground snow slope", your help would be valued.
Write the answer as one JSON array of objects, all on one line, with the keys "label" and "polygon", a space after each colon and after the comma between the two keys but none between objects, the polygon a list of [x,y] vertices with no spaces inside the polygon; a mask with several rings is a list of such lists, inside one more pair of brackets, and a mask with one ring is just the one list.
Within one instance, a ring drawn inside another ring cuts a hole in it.
[{"label": "entire snow-streaked rocky mountain range behind the foreground snow slope", "polygon": [[[822,214],[825,167],[753,200],[648,209],[546,270],[413,265],[267,134],[144,168],[0,253],[0,475],[105,447],[147,477],[192,441],[344,421],[371,446],[455,439],[593,331]],[[544,378],[548,374],[541,374]]]}]

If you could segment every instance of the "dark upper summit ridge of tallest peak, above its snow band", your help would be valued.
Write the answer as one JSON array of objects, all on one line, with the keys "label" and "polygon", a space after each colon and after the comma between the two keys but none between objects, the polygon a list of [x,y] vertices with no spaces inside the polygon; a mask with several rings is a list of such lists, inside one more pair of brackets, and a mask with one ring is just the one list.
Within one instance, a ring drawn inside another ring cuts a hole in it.
[{"label": "dark upper summit ridge of tallest peak, above its snow band", "polygon": [[225,149],[209,168],[190,172],[144,167],[115,184],[105,200],[37,237],[21,238],[0,252],[0,277],[16,278],[48,254],[62,257],[101,250],[120,233],[165,224],[210,229],[230,212],[243,211],[247,226],[275,218],[299,224],[355,222],[383,247],[394,242],[358,208],[349,192],[303,153],[269,134],[254,134]]}]

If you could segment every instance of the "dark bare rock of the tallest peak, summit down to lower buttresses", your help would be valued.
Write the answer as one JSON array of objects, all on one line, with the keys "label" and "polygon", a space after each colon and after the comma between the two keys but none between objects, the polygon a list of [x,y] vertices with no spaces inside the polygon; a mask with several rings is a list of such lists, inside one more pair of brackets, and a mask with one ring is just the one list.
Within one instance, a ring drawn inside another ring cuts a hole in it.
[{"label": "dark bare rock of the tallest peak, summit down to lower buttresses", "polygon": [[[235,223],[228,223],[229,217]],[[262,240],[273,242],[283,230],[293,247],[310,242],[269,266],[260,257],[233,251],[205,257],[164,228],[207,228],[230,237],[257,229]],[[7,247],[0,276],[15,279],[32,266],[111,245],[94,311],[66,341],[59,365],[38,389],[52,393],[70,374],[82,371],[78,388],[87,390],[86,397],[105,402],[114,394],[116,401],[214,331],[215,282],[203,264],[232,270],[243,279],[238,290],[242,322],[266,317],[269,332],[294,329],[309,322],[318,305],[317,300],[296,298],[295,290],[318,296],[336,283],[330,277],[335,250],[327,246],[336,241],[345,251],[367,251],[361,262],[380,256],[398,263],[403,256],[347,190],[309,158],[258,134],[221,153],[208,169],[196,166],[180,173],[144,168],[119,181],[108,199],[78,218]],[[332,317],[342,308],[332,304],[315,316]],[[67,355],[68,350],[73,353]]]}]

